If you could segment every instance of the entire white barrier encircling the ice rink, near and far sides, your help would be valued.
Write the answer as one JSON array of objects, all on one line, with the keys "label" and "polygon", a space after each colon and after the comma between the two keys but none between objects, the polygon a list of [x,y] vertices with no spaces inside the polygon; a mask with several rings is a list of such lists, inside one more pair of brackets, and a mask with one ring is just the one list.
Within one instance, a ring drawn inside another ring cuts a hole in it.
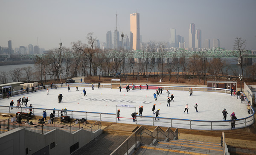
[{"label": "entire white barrier encircling the ice rink, near and far sides", "polygon": [[[57,88],[67,88],[67,86],[70,86],[70,89],[75,89],[73,87],[81,87],[80,91],[82,91],[83,87],[92,87],[92,84],[82,84],[82,83],[75,83],[75,84],[56,84]],[[98,89],[98,84],[93,84],[95,89]],[[132,89],[132,85],[129,85],[130,89]],[[50,85],[45,85],[46,90],[51,89]],[[126,85],[121,85],[122,88],[125,89]],[[223,89],[223,88],[209,88],[209,87],[183,87],[183,86],[157,86],[157,85],[148,85],[148,89],[151,90],[157,90],[158,87],[162,88],[163,90],[180,90],[180,91],[188,91],[189,88],[192,88],[193,91],[204,91],[204,92],[215,92],[215,93],[225,93],[230,94],[229,89]],[[101,84],[100,88],[108,88],[111,89],[111,84]],[[140,85],[135,85],[135,89],[140,89]],[[52,87],[54,89],[54,85]],[[142,89],[146,89],[146,86],[143,85]],[[43,86],[35,87],[36,91],[42,91]],[[29,93],[32,92],[32,88],[29,88]],[[13,96],[18,96],[21,94],[25,94],[26,90],[17,90],[12,92]],[[242,93],[242,92],[241,92]],[[245,94],[242,93],[244,96]],[[245,96],[245,104],[248,104],[248,99]],[[34,115],[42,115],[42,110],[45,110],[48,113],[52,113],[53,109],[45,109],[45,108],[29,108],[29,107],[19,107],[20,109],[15,109],[16,107],[13,107],[13,110],[11,110],[10,106],[0,106],[0,112],[3,113],[17,113],[17,112],[29,112],[29,109],[32,109],[32,113]],[[75,111],[75,110],[55,110],[55,113],[58,114],[58,117],[61,116],[61,111],[67,112],[68,116],[71,116],[71,118],[85,118],[89,120],[96,120],[96,121],[112,121],[116,122],[116,113],[97,113],[97,112],[87,112],[87,111]],[[241,118],[236,120],[236,129],[247,127],[254,123],[254,110],[251,107],[251,111],[253,114],[251,116],[248,116],[246,118]],[[63,113],[64,115],[64,113]],[[139,119],[137,119],[139,118]],[[143,118],[143,119],[140,119]],[[179,119],[179,118],[161,118],[161,121],[154,121],[155,117],[150,116],[137,116],[136,119],[139,121],[135,121],[135,124],[141,124],[141,125],[154,125],[154,126],[164,126],[164,127],[179,127],[179,128],[185,128],[185,129],[198,129],[198,130],[230,130],[232,129],[231,123],[233,121],[201,121],[201,120],[187,120],[187,119]],[[140,120],[143,121],[143,123],[140,122]]]}]

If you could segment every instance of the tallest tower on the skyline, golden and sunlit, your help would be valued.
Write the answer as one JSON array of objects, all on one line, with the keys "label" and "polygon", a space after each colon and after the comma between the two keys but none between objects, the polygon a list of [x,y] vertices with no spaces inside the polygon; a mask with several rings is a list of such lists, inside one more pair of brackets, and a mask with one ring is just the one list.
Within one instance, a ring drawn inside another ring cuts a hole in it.
[{"label": "tallest tower on the skyline, golden and sunlit", "polygon": [[140,14],[138,12],[130,14],[131,25],[131,49],[140,50]]}]

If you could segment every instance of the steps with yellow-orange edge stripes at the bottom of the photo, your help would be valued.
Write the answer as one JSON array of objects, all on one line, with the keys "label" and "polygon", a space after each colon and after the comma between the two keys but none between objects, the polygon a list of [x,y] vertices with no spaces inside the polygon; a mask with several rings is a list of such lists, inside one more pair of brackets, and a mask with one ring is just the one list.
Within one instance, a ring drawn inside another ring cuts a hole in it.
[{"label": "steps with yellow-orange edge stripes at the bottom of the photo", "polygon": [[223,155],[221,144],[191,140],[158,141],[155,146],[143,144],[136,155]]}]

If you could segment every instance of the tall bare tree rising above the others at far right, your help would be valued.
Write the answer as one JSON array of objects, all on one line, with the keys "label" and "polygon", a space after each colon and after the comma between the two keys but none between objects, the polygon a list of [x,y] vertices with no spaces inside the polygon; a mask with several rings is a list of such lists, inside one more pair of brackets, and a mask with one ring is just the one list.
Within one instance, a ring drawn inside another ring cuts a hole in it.
[{"label": "tall bare tree rising above the others at far right", "polygon": [[[241,37],[236,37],[236,40],[234,42],[234,50],[237,50],[239,52],[239,56],[238,56],[238,62],[239,65],[241,67],[241,71],[242,71],[242,76],[244,77],[244,70],[243,70],[243,59],[244,59],[244,54],[246,52],[245,50],[245,42],[246,40],[242,39]],[[244,78],[243,78],[243,82],[244,82]]]}]

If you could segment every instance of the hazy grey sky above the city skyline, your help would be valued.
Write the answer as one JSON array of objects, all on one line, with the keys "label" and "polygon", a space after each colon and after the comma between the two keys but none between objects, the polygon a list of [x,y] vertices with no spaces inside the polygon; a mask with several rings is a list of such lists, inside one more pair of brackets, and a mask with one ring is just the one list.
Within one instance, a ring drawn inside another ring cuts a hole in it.
[{"label": "hazy grey sky above the city skyline", "polygon": [[[233,49],[236,37],[246,39],[246,49],[256,50],[256,0],[0,0],[0,46],[37,45],[46,50],[71,42],[87,42],[93,35],[106,42],[107,31],[117,29],[130,38],[130,14],[140,13],[142,41],[169,41],[170,28],[185,38],[189,24],[204,39],[218,38]],[[112,37],[113,38],[113,37]],[[121,37],[120,37],[121,38]]]}]

